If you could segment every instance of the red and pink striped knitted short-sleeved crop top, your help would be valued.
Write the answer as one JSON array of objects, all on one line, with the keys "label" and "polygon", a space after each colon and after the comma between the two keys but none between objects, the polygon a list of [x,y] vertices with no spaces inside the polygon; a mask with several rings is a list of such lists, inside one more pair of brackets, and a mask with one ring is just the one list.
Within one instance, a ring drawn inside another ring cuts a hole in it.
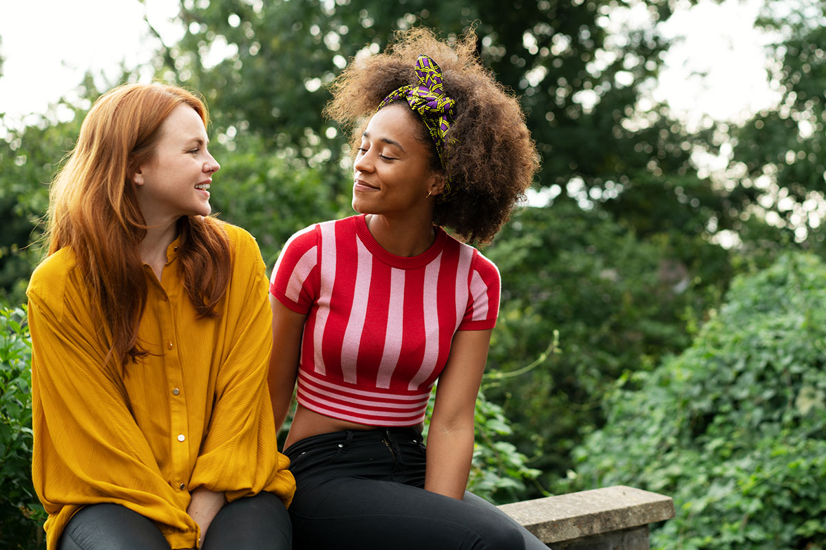
[{"label": "red and pink striped knitted short-sleeved crop top", "polygon": [[499,271],[436,228],[419,256],[396,256],[363,215],[294,234],[270,292],[306,314],[298,402],[364,425],[416,425],[456,331],[496,325]]}]

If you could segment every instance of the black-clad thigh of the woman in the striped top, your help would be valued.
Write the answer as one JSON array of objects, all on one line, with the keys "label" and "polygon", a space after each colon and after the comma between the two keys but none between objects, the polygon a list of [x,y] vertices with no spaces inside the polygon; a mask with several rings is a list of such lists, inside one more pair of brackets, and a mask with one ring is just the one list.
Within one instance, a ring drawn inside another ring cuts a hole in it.
[{"label": "black-clad thigh of the woman in the striped top", "polygon": [[525,548],[520,526],[495,506],[399,482],[341,477],[303,494],[299,489],[289,511],[297,550]]}]

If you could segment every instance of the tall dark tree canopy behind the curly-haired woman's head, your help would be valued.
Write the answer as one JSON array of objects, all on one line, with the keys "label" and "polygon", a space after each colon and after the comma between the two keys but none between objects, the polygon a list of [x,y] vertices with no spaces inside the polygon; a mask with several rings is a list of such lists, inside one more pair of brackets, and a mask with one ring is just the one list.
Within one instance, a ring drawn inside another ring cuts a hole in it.
[{"label": "tall dark tree canopy behind the curly-haired woman's head", "polygon": [[649,26],[613,25],[616,32],[612,16],[622,19],[628,7],[615,0],[349,4],[184,0],[187,30],[159,54],[159,75],[205,92],[220,132],[259,134],[339,186],[344,136],[321,116],[325,84],[397,29],[430,26],[450,39],[473,26],[483,63],[521,96],[543,155],[539,185],[563,190],[559,201],[601,204],[641,234],[696,235],[712,218],[720,229],[737,219],[732,198],[690,162],[694,144],[710,136],[686,133],[663,106],[638,107],[668,47],[654,25],[674,2],[634,2],[648,8]]}]

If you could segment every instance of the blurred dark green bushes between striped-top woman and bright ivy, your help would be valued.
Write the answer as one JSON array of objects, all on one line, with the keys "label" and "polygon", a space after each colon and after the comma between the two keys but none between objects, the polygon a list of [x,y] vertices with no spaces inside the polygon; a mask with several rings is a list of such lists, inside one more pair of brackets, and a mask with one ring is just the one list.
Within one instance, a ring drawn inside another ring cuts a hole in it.
[{"label": "blurred dark green bushes between striped-top woman and bright ivy", "polygon": [[506,403],[508,439],[535,455],[530,465],[544,472],[544,487],[572,468],[571,449],[602,425],[616,378],[688,346],[729,276],[726,252],[700,237],[638,237],[604,211],[570,202],[525,209],[484,253],[502,275],[491,370],[522,369],[558,331],[561,353],[487,391]]}]

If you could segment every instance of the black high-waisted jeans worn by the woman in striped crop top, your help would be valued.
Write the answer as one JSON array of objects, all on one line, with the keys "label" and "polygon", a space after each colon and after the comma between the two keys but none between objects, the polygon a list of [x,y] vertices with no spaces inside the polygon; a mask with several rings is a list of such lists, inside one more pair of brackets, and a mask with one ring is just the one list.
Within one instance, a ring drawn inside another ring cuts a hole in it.
[{"label": "black high-waisted jeans worn by the woman in striped crop top", "polygon": [[292,444],[296,550],[547,550],[484,499],[425,491],[425,445],[412,428],[347,430]]}]

